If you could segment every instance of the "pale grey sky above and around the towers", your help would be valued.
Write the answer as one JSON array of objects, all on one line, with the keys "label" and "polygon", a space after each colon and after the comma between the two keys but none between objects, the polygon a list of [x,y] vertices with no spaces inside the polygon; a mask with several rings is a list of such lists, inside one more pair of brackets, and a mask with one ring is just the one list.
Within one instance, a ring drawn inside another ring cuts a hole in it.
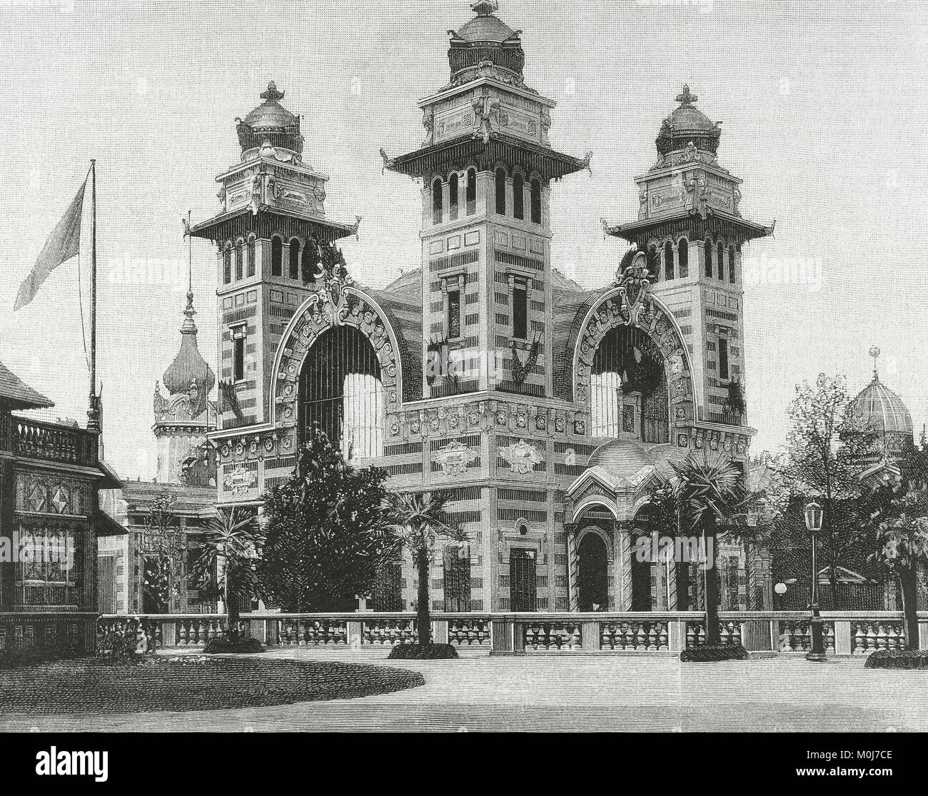
[{"label": "pale grey sky above and around the towers", "polygon": [[[826,372],[861,389],[874,344],[922,429],[928,0],[501,0],[497,14],[522,30],[526,83],[558,103],[552,144],[594,152],[591,174],[552,191],[555,267],[587,288],[612,279],[625,246],[600,219],[637,217],[633,178],[689,83],[723,122],[719,160],[744,180],[741,212],[776,220],[744,251],[753,452],[784,442],[798,382]],[[56,402],[44,417],[86,419],[89,257],[12,306],[91,158],[106,456],[150,478],[152,392],[179,348],[187,290],[180,219],[218,211],[236,117],[269,80],[286,92],[304,160],[330,176],[329,217],[363,216],[342,247],[354,278],[382,287],[418,267],[421,211],[417,184],[381,174],[379,150],[419,147],[416,102],[447,83],[446,32],[470,17],[465,0],[0,2],[0,359]],[[202,240],[189,253],[200,348],[215,363],[215,257]],[[799,283],[778,277],[784,259],[802,263]],[[125,268],[138,261],[142,279]]]}]

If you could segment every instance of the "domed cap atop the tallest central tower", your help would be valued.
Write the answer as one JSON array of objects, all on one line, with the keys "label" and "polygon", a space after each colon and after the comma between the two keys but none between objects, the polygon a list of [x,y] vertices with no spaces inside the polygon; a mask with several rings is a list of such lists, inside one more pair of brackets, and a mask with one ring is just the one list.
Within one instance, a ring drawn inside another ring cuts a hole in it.
[{"label": "domed cap atop the tallest central tower", "polygon": [[514,83],[522,83],[525,53],[522,51],[522,31],[513,31],[493,13],[496,0],[478,0],[470,7],[476,17],[459,31],[448,31],[451,45],[448,64],[452,83],[467,83],[477,76],[481,67],[492,66]]}]

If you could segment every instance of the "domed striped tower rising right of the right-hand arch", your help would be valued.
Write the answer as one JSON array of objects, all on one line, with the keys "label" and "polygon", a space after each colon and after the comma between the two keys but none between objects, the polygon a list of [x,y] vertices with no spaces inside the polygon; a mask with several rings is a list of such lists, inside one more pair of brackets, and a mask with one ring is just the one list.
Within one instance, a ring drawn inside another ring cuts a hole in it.
[{"label": "domed striped tower rising right of the right-hand arch", "polygon": [[[650,252],[651,290],[677,319],[692,363],[695,418],[726,434],[747,425],[741,250],[773,226],[741,215],[741,179],[718,160],[721,122],[689,85],[661,124],[658,160],[635,178],[638,219],[608,235]],[[677,444],[691,441],[677,436]]]}]

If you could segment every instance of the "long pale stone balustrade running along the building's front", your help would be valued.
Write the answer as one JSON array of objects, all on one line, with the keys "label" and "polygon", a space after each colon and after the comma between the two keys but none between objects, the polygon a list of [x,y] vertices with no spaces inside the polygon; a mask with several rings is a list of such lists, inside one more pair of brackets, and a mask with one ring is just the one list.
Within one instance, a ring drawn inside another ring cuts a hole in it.
[{"label": "long pale stone balustrade running along the building's front", "polygon": [[[898,611],[823,611],[826,649],[866,655],[905,647]],[[928,648],[928,611],[919,613],[921,648]],[[226,636],[221,614],[108,615],[100,634],[141,626],[158,647],[202,648]],[[739,611],[719,616],[722,641],[749,651],[792,655],[811,644],[808,613]],[[245,613],[239,633],[276,648],[387,648],[418,639],[413,613]],[[654,613],[441,613],[432,618],[432,640],[498,655],[625,652],[677,654],[705,644],[705,615]]]}]

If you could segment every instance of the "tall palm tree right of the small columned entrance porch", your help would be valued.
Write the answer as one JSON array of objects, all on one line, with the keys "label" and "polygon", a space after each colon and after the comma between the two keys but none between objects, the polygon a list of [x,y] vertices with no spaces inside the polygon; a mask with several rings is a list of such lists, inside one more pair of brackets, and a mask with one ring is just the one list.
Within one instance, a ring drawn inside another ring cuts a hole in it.
[{"label": "tall palm tree right of the small columned entrance porch", "polygon": [[[702,536],[703,549],[715,558],[715,539],[719,526],[734,515],[744,502],[745,490],[741,471],[721,457],[710,462],[708,456],[702,461],[688,456],[680,464],[673,463],[677,473],[677,498],[691,527]],[[703,570],[705,594],[705,643],[707,646],[721,644],[722,635],[718,623],[718,578],[715,560],[705,563]]]}]

